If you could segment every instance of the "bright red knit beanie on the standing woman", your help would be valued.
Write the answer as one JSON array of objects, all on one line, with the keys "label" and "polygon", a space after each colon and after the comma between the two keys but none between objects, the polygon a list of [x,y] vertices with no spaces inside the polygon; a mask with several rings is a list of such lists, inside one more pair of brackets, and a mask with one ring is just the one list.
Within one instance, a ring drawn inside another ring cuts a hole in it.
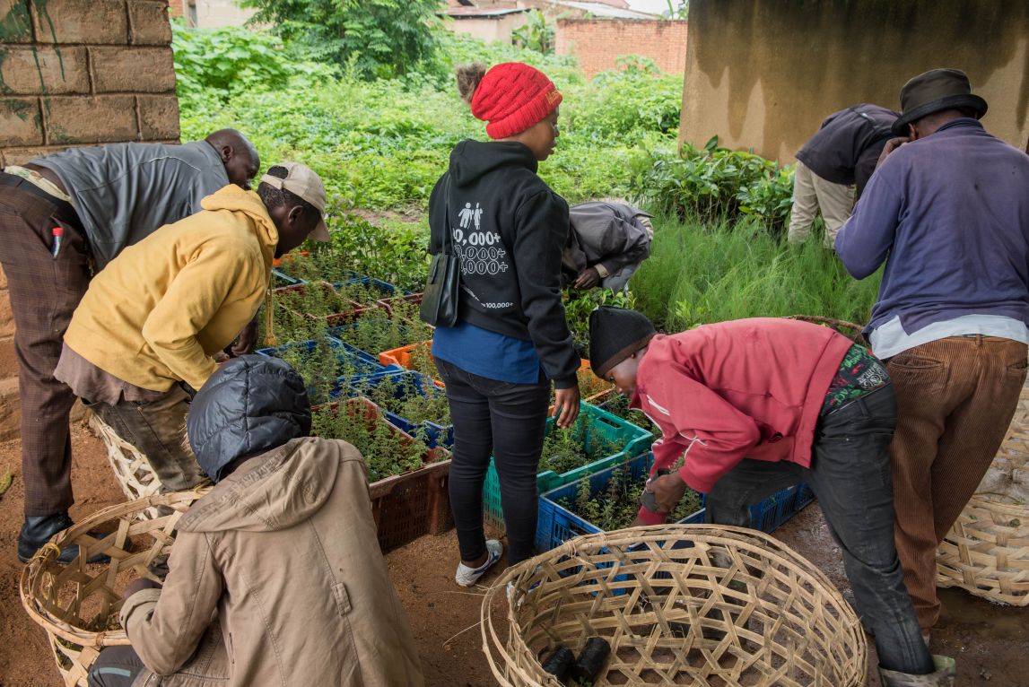
[{"label": "bright red knit beanie on the standing woman", "polygon": [[521,62],[504,62],[478,82],[471,114],[488,122],[490,138],[503,139],[542,121],[560,104],[561,94],[546,74]]}]

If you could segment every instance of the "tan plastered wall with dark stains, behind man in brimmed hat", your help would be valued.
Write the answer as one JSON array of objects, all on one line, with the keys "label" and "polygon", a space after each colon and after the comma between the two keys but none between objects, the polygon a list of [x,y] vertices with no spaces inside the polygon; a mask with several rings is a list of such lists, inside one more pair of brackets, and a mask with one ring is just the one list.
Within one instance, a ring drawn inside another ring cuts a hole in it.
[{"label": "tan plastered wall with dark stains, behind man in brimmed hat", "polygon": [[1026,149],[1026,0],[691,0],[680,136],[781,162],[825,115],[899,109],[900,86],[936,67],[967,72],[987,131]]}]

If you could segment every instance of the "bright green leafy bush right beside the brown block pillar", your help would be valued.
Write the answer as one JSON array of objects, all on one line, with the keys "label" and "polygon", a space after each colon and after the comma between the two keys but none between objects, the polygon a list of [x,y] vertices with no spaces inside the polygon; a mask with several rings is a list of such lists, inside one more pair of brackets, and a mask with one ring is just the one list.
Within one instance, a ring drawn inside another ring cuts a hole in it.
[{"label": "bright green leafy bush right beside the brown block pillar", "polygon": [[326,79],[335,70],[289,59],[281,41],[267,32],[236,27],[188,29],[172,23],[176,92],[183,107],[225,101],[253,91],[286,87],[293,77]]}]

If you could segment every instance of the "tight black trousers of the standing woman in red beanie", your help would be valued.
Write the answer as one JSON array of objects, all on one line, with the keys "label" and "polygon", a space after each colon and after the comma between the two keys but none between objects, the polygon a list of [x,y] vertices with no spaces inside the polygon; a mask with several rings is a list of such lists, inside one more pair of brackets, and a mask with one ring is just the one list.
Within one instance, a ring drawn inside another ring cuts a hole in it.
[{"label": "tight black trousers of the standing woman in red beanie", "polygon": [[546,430],[551,385],[510,384],[467,372],[446,360],[436,367],[447,384],[454,422],[450,497],[462,561],[486,553],[483,482],[493,454],[507,530],[507,565],[532,557],[536,536],[536,472]]}]

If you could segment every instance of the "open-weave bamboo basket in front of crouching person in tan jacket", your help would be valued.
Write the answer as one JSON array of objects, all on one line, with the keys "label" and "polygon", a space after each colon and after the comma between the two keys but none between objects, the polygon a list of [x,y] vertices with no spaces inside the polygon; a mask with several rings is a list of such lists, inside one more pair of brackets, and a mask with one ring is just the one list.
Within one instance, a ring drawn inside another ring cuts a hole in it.
[{"label": "open-weave bamboo basket in front of crouching person in tan jacket", "polygon": [[[148,567],[168,554],[176,522],[207,491],[152,495],[97,511],[57,535],[22,571],[22,606],[46,630],[65,685],[85,687],[100,650],[129,644],[118,625],[122,590],[140,577],[157,579]],[[158,509],[162,515],[141,518]],[[97,539],[91,532],[105,534]],[[78,545],[78,556],[67,566],[57,563],[69,544]],[[99,553],[110,563],[86,563]]]}]

